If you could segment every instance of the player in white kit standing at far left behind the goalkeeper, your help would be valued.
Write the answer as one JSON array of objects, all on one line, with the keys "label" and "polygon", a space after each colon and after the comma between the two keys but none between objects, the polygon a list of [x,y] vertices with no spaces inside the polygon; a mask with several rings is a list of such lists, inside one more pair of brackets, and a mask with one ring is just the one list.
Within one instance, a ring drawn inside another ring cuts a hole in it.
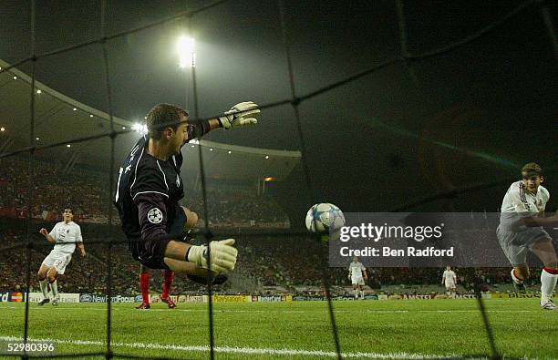
[{"label": "player in white kit standing at far left behind the goalkeeper", "polygon": [[85,257],[86,252],[83,247],[83,238],[81,237],[81,229],[79,225],[72,221],[74,215],[72,209],[69,207],[64,208],[62,214],[64,221],[58,222],[52,231],[48,232],[47,229],[42,228],[39,232],[47,238],[47,241],[54,243],[54,249],[47,255],[37,273],[41,292],[43,293],[43,300],[38,304],[40,306],[48,303],[48,289],[47,285],[50,283],[52,290],[52,304],[58,305],[60,297],[58,295],[57,275],[64,274],[67,264],[72,260],[72,253],[76,250],[78,245],[79,252],[82,257]]}]

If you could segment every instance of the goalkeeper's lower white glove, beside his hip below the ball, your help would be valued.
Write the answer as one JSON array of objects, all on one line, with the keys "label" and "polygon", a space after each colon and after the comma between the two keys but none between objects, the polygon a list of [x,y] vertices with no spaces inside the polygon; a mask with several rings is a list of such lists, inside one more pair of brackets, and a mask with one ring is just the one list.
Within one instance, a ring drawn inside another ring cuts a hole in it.
[{"label": "goalkeeper's lower white glove, beside his hip below the ball", "polygon": [[[216,273],[227,273],[234,269],[238,250],[233,247],[234,239],[226,239],[220,242],[210,242],[211,270]],[[207,269],[207,246],[192,245],[188,252],[188,261],[195,262],[202,268]]]}]

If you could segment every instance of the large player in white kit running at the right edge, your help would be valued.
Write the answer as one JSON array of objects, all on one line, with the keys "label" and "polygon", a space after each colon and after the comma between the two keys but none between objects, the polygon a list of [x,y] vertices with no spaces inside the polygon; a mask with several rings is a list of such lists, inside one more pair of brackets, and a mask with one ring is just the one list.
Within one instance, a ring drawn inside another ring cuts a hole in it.
[{"label": "large player in white kit running at the right edge", "polygon": [[511,279],[517,290],[524,291],[523,282],[529,277],[527,252],[534,253],[544,265],[541,273],[541,307],[558,310],[551,299],[558,279],[558,257],[553,239],[542,226],[558,226],[558,215],[544,218],[544,208],[550,199],[541,186],[542,169],[531,162],[522,168],[522,180],[511,184],[501,203],[498,241],[511,262]]}]

